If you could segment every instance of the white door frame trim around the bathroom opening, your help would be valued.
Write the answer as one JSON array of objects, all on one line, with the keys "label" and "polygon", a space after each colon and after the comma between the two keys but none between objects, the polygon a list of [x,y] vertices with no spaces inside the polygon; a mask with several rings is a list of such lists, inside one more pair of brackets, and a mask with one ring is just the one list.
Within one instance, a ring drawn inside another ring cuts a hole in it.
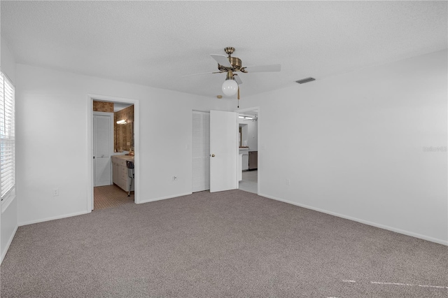
[{"label": "white door frame trim around the bathroom opening", "polygon": [[140,204],[140,119],[139,119],[139,100],[126,99],[123,97],[111,97],[98,94],[87,94],[87,212],[92,212],[93,197],[93,101],[109,101],[116,103],[125,103],[134,105],[134,203]]}]

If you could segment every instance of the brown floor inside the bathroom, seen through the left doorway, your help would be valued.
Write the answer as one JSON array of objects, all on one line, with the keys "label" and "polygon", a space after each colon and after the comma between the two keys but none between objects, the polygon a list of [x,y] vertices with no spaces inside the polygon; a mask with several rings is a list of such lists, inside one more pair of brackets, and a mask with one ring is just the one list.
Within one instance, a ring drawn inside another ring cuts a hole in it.
[{"label": "brown floor inside the bathroom, seen through the left doorway", "polygon": [[127,192],[115,184],[93,187],[93,196],[94,211],[124,204],[134,204],[134,192],[131,192],[131,196],[127,197]]}]

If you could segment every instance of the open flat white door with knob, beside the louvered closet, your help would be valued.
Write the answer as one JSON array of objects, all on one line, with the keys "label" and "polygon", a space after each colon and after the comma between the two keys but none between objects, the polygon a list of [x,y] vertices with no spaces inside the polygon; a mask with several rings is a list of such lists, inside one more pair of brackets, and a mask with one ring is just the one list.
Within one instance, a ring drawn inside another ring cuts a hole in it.
[{"label": "open flat white door with knob, beside the louvered closet", "polygon": [[237,188],[237,119],[235,112],[210,111],[210,192]]}]

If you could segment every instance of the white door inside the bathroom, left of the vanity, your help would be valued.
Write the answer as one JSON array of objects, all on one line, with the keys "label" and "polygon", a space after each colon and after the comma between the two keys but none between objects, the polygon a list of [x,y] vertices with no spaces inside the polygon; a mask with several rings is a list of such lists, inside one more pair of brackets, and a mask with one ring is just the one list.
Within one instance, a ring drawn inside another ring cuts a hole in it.
[{"label": "white door inside the bathroom, left of the vanity", "polygon": [[111,185],[112,115],[93,115],[94,186]]}]

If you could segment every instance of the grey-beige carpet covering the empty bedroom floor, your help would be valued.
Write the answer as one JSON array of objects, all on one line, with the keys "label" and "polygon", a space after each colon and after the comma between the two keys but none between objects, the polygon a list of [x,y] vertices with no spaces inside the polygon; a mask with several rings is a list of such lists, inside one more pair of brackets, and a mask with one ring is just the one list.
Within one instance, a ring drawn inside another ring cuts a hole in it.
[{"label": "grey-beige carpet covering the empty bedroom floor", "polygon": [[447,246],[241,190],[19,227],[0,269],[2,298],[448,297]]}]

